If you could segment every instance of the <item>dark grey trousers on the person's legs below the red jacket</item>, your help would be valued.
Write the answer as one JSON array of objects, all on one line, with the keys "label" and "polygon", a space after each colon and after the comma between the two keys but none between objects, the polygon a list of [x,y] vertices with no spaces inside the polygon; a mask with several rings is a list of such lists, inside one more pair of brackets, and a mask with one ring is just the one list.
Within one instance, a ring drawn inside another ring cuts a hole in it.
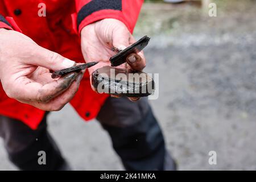
[{"label": "dark grey trousers on the person's legs below the red jacket", "polygon": [[[108,98],[97,120],[112,138],[114,150],[128,170],[175,170],[162,131],[146,98]],[[9,159],[22,170],[57,170],[65,160],[47,131],[45,116],[37,130],[0,115],[0,137]],[[38,164],[38,151],[46,151],[47,165]]]}]

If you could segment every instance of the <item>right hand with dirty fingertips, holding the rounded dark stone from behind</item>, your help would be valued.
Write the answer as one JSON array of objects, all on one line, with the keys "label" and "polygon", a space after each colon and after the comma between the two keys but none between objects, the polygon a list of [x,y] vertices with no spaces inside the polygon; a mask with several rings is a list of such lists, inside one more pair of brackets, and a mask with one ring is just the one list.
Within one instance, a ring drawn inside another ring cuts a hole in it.
[{"label": "right hand with dirty fingertips, holding the rounded dark stone from behind", "polygon": [[[135,43],[133,35],[125,24],[117,19],[104,19],[84,27],[81,31],[84,59],[86,62],[100,61],[96,66],[89,68],[90,75],[96,69],[110,65],[109,58],[117,53],[112,50],[113,48],[122,50],[133,43]],[[128,65],[122,64],[119,67],[142,71],[146,66],[143,52],[131,53],[127,56],[127,63]],[[130,98],[130,100],[135,101],[138,98]]]}]

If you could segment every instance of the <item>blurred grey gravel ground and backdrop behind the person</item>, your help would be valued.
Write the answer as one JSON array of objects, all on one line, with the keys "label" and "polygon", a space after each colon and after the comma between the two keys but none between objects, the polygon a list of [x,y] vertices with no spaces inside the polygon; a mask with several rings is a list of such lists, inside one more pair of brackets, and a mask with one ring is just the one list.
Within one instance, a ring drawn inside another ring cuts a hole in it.
[{"label": "blurred grey gravel ground and backdrop behind the person", "polygon": [[[160,80],[159,98],[150,102],[179,170],[256,169],[255,17],[255,0],[143,5],[134,35],[151,37],[145,71]],[[48,124],[73,169],[123,169],[97,121],[84,123],[67,105]],[[0,170],[11,169],[0,140]]]}]

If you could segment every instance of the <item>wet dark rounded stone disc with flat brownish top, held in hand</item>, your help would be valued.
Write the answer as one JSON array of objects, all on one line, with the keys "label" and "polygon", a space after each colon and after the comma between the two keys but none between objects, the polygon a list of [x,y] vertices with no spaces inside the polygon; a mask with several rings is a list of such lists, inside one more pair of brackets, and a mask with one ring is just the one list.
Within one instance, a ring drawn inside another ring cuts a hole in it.
[{"label": "wet dark rounded stone disc with flat brownish top, held in hand", "polygon": [[92,84],[98,93],[115,96],[146,97],[155,90],[155,82],[147,73],[109,66],[93,72]]}]

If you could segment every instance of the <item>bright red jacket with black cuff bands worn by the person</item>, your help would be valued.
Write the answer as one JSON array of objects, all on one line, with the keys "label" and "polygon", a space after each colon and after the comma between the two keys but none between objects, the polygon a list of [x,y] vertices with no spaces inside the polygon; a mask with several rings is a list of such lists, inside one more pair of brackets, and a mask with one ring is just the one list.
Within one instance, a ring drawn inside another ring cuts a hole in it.
[{"label": "bright red jacket with black cuff bands worn by the person", "polygon": [[[38,15],[43,7],[39,3],[46,5],[46,16]],[[0,0],[0,28],[22,31],[40,46],[84,62],[79,39],[81,29],[97,20],[114,18],[132,32],[142,3],[143,0]],[[88,121],[96,117],[107,97],[93,92],[86,72],[71,105]],[[0,115],[19,119],[36,129],[44,112],[7,97],[0,85]]]}]

